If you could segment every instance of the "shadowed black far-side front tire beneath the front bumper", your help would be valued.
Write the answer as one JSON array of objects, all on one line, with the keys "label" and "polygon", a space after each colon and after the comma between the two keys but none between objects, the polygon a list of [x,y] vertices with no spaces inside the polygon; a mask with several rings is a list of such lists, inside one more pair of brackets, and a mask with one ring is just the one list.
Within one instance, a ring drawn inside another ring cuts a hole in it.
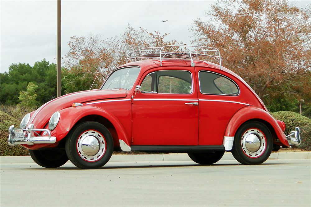
[{"label": "shadowed black far-side front tire beneath the front bumper", "polygon": [[66,151],[62,149],[29,150],[29,154],[35,163],[45,168],[57,168],[68,161]]}]

